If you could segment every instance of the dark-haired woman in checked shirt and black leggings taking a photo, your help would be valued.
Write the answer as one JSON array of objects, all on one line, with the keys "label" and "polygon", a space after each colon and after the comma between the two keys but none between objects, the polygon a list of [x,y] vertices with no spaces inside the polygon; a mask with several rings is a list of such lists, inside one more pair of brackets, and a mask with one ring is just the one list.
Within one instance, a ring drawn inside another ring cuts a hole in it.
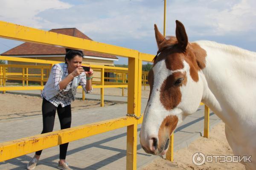
[{"label": "dark-haired woman in checked shirt and black leggings taking a photo", "polygon": [[[71,125],[71,102],[75,100],[76,88],[80,84],[86,93],[92,91],[93,70],[85,72],[81,67],[83,52],[79,50],[66,49],[65,63],[52,66],[49,79],[41,93],[43,98],[43,131],[42,133],[52,132],[55,113],[58,112],[61,129],[69,128]],[[59,145],[60,156],[58,169],[71,170],[66,162],[66,144]],[[27,164],[28,170],[35,169],[42,150],[35,153],[33,159]]]}]

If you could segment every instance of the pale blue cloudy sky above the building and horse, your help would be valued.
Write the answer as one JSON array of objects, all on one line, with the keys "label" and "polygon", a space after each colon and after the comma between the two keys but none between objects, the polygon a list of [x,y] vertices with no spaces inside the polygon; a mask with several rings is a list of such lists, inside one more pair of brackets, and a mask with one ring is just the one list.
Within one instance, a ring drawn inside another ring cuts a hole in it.
[{"label": "pale blue cloudy sky above the building and horse", "polygon": [[[175,20],[189,41],[211,40],[256,51],[256,0],[166,0],[166,35]],[[0,20],[43,30],[77,28],[92,40],[156,54],[163,0],[1,0]],[[0,38],[0,53],[23,42]],[[119,57],[115,64],[127,64]]]}]

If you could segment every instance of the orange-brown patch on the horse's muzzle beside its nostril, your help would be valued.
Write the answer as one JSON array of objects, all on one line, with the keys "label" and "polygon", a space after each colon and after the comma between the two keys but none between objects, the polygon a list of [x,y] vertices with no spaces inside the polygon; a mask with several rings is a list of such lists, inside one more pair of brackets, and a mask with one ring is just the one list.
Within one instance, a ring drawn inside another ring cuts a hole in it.
[{"label": "orange-brown patch on the horse's muzzle beside its nostril", "polygon": [[176,115],[166,116],[158,130],[158,149],[165,145],[166,138],[169,137],[178,123],[178,117]]}]

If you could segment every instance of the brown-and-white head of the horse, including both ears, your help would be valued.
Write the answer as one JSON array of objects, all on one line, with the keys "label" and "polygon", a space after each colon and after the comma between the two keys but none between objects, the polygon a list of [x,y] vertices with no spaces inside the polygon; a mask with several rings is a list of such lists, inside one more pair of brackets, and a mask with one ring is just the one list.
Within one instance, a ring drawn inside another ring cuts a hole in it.
[{"label": "brown-and-white head of the horse, including both ears", "polygon": [[148,73],[150,94],[140,144],[145,152],[160,155],[166,153],[176,126],[200,105],[206,51],[188,42],[185,28],[177,20],[176,37],[165,38],[154,27],[159,51]]}]

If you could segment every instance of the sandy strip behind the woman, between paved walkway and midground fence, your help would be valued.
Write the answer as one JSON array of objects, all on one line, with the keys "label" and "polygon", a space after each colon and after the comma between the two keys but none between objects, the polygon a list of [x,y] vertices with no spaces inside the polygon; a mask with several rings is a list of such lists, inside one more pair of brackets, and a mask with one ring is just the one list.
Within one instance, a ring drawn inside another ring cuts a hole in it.
[{"label": "sandy strip behind the woman, between paved walkway and midground fence", "polygon": [[[105,106],[117,105],[115,102],[104,102]],[[42,99],[39,96],[20,94],[0,94],[0,120],[20,118],[42,114]],[[76,99],[71,104],[71,110],[100,107],[100,101]]]}]

